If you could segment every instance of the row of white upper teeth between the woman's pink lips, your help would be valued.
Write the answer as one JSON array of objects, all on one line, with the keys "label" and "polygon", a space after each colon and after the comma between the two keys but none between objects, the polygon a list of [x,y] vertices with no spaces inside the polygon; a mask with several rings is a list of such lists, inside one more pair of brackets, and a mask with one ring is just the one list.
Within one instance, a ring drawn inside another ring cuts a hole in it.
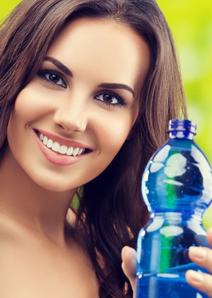
[{"label": "row of white upper teeth between the woman's pink lips", "polygon": [[59,152],[61,154],[67,154],[67,155],[80,155],[84,153],[84,148],[73,148],[73,147],[67,147],[64,145],[60,145],[58,142],[54,142],[52,139],[48,139],[46,136],[44,136],[41,133],[38,133],[39,138],[41,141],[43,141],[43,144],[46,145],[48,148],[52,149],[55,152]]}]

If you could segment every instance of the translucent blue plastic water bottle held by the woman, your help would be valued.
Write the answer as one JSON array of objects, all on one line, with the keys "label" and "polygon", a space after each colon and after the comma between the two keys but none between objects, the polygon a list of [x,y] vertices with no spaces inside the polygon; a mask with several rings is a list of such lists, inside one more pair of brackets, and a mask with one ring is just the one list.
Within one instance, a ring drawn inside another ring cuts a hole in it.
[{"label": "translucent blue plastic water bottle held by the woman", "polygon": [[185,279],[207,272],[188,256],[190,246],[210,247],[202,217],[212,200],[212,168],[194,143],[196,124],[171,120],[170,139],[149,160],[142,196],[150,212],[137,247],[137,298],[208,298]]}]

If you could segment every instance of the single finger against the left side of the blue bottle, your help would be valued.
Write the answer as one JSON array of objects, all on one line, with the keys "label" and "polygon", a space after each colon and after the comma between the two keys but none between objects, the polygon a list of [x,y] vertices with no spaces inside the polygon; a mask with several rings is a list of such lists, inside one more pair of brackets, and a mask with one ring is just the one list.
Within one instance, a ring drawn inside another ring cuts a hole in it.
[{"label": "single finger against the left side of the blue bottle", "polygon": [[122,269],[130,281],[133,291],[136,290],[136,250],[125,246],[122,249]]}]

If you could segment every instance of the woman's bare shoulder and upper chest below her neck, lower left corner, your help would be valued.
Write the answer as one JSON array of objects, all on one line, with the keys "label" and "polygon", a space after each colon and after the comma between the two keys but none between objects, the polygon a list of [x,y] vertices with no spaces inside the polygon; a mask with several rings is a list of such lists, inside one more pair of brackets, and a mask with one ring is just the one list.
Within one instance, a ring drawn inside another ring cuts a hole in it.
[{"label": "woman's bare shoulder and upper chest below her neck, lower left corner", "polygon": [[99,297],[95,271],[78,243],[64,251],[31,238],[0,216],[0,297]]}]

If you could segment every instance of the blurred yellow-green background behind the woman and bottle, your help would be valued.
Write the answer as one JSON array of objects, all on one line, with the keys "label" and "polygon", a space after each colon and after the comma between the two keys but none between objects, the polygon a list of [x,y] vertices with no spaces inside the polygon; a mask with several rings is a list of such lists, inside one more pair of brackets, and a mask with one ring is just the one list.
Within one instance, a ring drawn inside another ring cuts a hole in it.
[{"label": "blurred yellow-green background behind the woman and bottle", "polygon": [[[0,19],[20,2],[0,3]],[[211,0],[157,0],[176,42],[189,119],[198,125],[195,141],[212,163],[212,5]],[[212,205],[204,217],[212,226]]]}]

